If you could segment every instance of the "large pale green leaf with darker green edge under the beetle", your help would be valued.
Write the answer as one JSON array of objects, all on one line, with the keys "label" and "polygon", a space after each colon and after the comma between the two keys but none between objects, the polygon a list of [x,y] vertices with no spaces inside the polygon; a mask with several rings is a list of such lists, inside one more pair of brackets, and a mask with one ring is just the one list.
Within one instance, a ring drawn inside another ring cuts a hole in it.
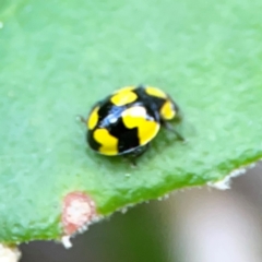
[{"label": "large pale green leaf with darker green edge under the beetle", "polygon": [[[259,160],[261,17],[259,0],[2,1],[0,241],[61,238],[70,192],[104,216]],[[140,83],[178,103],[187,143],[162,130],[132,168],[75,116]]]}]

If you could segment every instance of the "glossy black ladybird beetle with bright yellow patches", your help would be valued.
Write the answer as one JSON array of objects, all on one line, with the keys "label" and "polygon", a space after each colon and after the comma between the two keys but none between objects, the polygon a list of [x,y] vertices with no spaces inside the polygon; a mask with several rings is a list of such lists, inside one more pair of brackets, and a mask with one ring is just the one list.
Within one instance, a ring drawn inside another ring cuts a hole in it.
[{"label": "glossy black ladybird beetle with bright yellow patches", "polygon": [[178,106],[162,90],[126,86],[93,106],[84,120],[87,143],[103,155],[136,157],[146,151],[160,126],[168,127],[166,121],[177,116]]}]

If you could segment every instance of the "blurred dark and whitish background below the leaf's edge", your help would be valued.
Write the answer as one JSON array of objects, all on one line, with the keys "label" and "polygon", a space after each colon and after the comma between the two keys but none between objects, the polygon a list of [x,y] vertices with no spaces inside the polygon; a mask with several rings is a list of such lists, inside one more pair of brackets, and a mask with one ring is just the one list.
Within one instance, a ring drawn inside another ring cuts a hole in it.
[{"label": "blurred dark and whitish background below the leaf's edge", "polygon": [[231,190],[191,189],[116,213],[61,243],[21,245],[21,262],[261,262],[262,164]]}]

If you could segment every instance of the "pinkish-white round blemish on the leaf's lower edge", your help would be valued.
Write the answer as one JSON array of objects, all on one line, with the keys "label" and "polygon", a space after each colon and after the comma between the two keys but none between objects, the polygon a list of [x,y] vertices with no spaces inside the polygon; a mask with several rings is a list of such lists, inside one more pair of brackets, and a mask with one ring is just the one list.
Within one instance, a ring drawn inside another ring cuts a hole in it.
[{"label": "pinkish-white round blemish on the leaf's lower edge", "polygon": [[80,231],[97,217],[95,202],[83,192],[71,192],[63,199],[62,225],[67,236]]}]

